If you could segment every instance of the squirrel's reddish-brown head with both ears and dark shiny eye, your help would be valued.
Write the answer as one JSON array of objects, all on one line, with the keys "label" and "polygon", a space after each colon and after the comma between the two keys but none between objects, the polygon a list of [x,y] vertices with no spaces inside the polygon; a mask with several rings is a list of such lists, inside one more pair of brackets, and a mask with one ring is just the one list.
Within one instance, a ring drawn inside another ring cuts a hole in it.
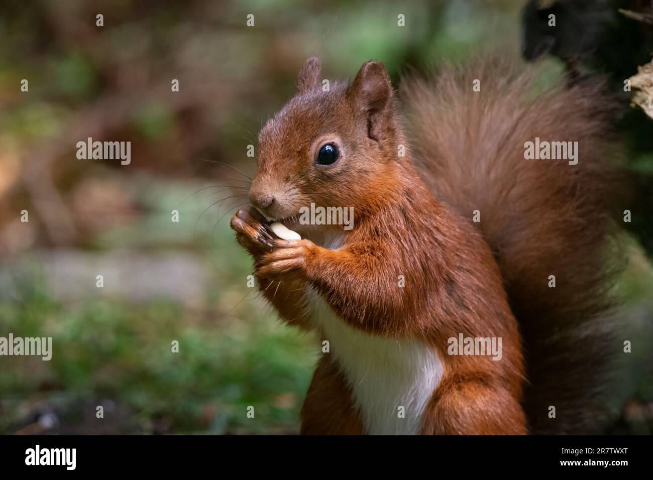
[{"label": "squirrel's reddish-brown head with both ears and dark shiny eye", "polygon": [[316,57],[306,61],[295,96],[259,134],[249,198],[268,219],[298,216],[311,202],[365,212],[396,175],[402,134],[383,64],[364,63],[351,84],[322,82],[320,70]]}]

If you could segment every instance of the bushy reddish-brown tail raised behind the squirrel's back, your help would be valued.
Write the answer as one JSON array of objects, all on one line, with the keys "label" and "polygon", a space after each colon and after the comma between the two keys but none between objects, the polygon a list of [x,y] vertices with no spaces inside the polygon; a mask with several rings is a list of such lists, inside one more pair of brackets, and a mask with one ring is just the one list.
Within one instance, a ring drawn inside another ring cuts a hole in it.
[{"label": "bushy reddish-brown tail raised behind the squirrel's back", "polygon": [[[617,258],[615,112],[597,82],[538,91],[535,68],[475,61],[408,78],[404,104],[424,181],[463,216],[480,212],[475,225],[524,337],[531,431],[591,432],[607,416],[607,373],[620,348],[607,321]],[[578,142],[577,165],[526,159],[524,144],[536,137]]]}]

